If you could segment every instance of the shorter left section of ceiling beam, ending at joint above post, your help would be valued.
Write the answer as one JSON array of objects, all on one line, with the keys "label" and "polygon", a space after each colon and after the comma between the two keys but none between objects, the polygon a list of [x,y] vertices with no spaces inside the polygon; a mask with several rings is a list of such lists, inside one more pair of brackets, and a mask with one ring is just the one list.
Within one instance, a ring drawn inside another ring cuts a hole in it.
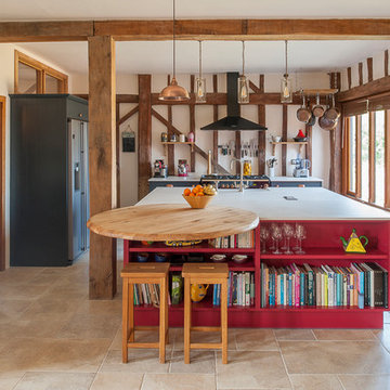
[{"label": "shorter left section of ceiling beam, ending at joint above post", "polygon": [[0,23],[0,42],[86,41],[93,35],[92,21]]}]

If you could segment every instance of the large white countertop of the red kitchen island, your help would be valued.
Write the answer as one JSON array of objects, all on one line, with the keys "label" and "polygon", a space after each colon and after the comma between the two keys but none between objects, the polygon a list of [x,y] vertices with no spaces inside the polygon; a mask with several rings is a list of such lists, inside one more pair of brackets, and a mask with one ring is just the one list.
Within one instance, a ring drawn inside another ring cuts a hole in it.
[{"label": "large white countertop of the red kitchen island", "polygon": [[[186,204],[183,188],[157,187],[138,205]],[[286,200],[294,196],[298,200]],[[211,205],[256,212],[261,220],[390,220],[390,212],[363,205],[322,187],[268,190],[220,190]]]}]

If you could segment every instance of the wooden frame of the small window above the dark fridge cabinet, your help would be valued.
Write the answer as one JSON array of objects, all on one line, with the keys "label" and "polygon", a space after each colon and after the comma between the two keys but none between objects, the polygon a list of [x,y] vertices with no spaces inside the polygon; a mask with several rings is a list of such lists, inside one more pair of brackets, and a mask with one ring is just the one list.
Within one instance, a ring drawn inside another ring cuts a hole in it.
[{"label": "wooden frame of the small window above the dark fridge cabinet", "polygon": [[46,92],[46,76],[50,76],[58,80],[58,92],[68,93],[68,76],[60,70],[56,70],[29,55],[15,50],[14,54],[14,93],[18,91],[18,67],[20,63],[34,68],[37,73],[37,93]]}]

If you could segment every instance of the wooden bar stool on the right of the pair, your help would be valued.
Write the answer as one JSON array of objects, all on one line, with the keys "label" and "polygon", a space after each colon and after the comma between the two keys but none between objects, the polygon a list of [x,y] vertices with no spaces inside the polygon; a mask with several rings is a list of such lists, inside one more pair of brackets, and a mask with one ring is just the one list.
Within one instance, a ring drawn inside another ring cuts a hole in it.
[{"label": "wooden bar stool on the right of the pair", "polygon": [[[190,363],[191,349],[221,349],[222,363],[227,363],[227,264],[185,263],[184,277],[184,363]],[[221,326],[191,326],[191,285],[221,285]],[[191,343],[191,330],[221,332],[222,342]]]}]

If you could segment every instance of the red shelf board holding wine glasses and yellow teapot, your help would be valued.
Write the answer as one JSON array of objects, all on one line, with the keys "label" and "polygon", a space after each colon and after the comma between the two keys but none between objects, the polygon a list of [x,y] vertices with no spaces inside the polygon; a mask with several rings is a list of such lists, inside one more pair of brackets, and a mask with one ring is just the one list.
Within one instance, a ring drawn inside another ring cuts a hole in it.
[{"label": "red shelf board holding wine glasses and yellow teapot", "polygon": [[346,253],[341,248],[303,248],[304,255],[274,255],[274,253],[260,253],[262,260],[272,259],[288,259],[288,260],[300,260],[300,259],[318,259],[318,260],[386,260],[388,255],[378,250],[372,249],[367,253]]}]

